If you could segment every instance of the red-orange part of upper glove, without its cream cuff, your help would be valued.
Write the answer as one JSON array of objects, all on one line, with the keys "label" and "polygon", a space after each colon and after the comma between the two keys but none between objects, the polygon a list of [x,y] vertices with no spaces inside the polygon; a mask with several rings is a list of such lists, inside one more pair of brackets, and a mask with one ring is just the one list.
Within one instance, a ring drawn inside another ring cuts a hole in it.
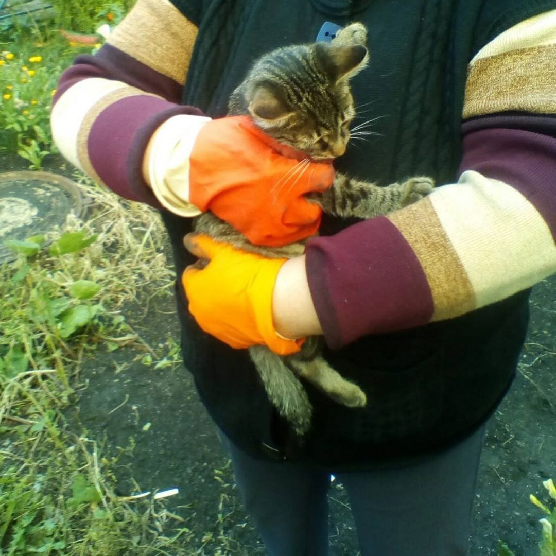
[{"label": "red-orange part of upper glove, without its cream cuff", "polygon": [[191,152],[190,201],[256,245],[305,239],[319,229],[322,210],[303,195],[324,191],[334,179],[330,163],[299,163],[305,158],[266,136],[248,116],[212,120]]}]

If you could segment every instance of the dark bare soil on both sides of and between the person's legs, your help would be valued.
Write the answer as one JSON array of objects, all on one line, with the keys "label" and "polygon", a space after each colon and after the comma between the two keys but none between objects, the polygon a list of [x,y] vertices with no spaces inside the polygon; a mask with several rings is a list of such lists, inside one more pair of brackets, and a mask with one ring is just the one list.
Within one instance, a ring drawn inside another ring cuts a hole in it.
[{"label": "dark bare soil on both sides of and between the person's legs", "polygon": [[[11,170],[4,166],[4,170]],[[529,494],[545,500],[542,481],[556,479],[556,277],[535,287],[532,320],[517,379],[490,421],[473,510],[471,556],[497,554],[503,539],[517,556],[537,556],[540,510]],[[178,338],[170,292],[127,307],[126,321],[163,354]],[[181,365],[155,370],[141,363],[146,351],[103,349],[86,361],[78,405],[72,409],[90,438],[106,439],[105,451],[135,445],[117,469],[118,492],[177,487],[167,508],[186,520],[183,542],[196,554],[264,554],[241,507],[229,460]],[[150,424],[150,425],[147,425]],[[145,426],[147,425],[147,426]],[[133,478],[133,479],[132,479]],[[347,497],[330,490],[331,556],[356,556],[358,547]],[[184,524],[176,526],[183,527]]]}]

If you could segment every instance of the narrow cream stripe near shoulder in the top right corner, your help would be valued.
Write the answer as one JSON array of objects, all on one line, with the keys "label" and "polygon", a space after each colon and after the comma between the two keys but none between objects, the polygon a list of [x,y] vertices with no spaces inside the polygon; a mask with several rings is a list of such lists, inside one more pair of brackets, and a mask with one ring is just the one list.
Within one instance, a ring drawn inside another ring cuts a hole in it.
[{"label": "narrow cream stripe near shoulder in the top right corner", "polygon": [[497,56],[519,48],[531,48],[556,43],[556,9],[530,17],[510,27],[494,38],[471,60],[471,64],[481,58]]}]

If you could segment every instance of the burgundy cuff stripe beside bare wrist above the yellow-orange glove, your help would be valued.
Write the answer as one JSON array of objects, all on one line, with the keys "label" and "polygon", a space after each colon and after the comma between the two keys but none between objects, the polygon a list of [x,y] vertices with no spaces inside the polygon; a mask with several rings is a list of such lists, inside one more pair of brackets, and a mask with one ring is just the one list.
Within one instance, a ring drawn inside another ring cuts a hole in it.
[{"label": "burgundy cuff stripe beside bare wrist above the yellow-orange glove", "polygon": [[306,269],[332,348],[367,334],[420,326],[433,315],[423,269],[408,242],[384,217],[311,240]]}]

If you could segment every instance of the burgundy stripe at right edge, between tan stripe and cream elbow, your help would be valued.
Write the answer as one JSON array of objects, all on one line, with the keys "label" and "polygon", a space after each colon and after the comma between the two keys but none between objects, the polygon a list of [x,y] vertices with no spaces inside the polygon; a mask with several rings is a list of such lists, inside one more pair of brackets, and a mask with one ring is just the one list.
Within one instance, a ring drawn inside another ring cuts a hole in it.
[{"label": "burgundy stripe at right edge, between tan stripe and cream elbow", "polygon": [[535,131],[504,127],[504,116],[497,117],[499,127],[490,127],[492,119],[485,118],[485,128],[479,127],[480,120],[473,121],[473,127],[468,125],[467,130],[473,131],[463,140],[460,171],[474,170],[517,189],[547,222],[556,240],[556,119],[521,117],[530,123],[520,124]]}]

